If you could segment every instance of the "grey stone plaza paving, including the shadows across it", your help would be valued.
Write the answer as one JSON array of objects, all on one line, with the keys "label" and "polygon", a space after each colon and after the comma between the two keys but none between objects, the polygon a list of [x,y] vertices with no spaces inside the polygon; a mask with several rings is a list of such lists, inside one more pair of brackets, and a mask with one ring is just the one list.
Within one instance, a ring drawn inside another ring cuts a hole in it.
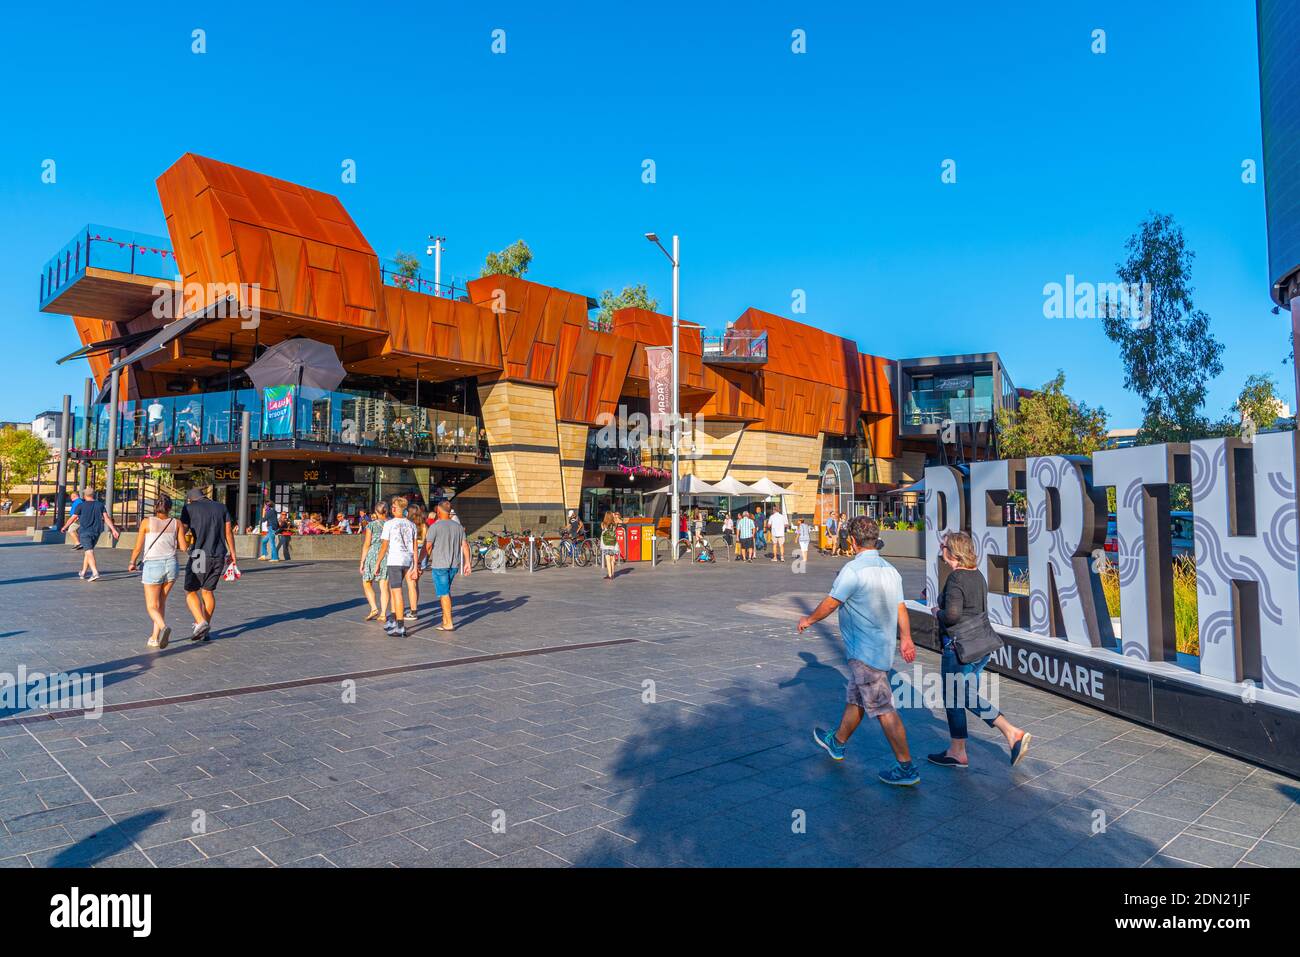
[{"label": "grey stone plaza paving, including the shadows across it", "polygon": [[970,771],[924,763],[946,726],[923,709],[918,788],[876,781],[866,723],[831,762],[838,635],[794,619],[838,559],[474,573],[455,633],[406,640],[361,623],[351,563],[250,563],[208,644],[178,588],[159,654],[126,551],[100,555],[81,583],[79,553],[0,536],[0,671],[100,672],[109,705],[5,713],[0,865],[1300,865],[1296,780],[1013,681],[1017,768],[978,722]]}]

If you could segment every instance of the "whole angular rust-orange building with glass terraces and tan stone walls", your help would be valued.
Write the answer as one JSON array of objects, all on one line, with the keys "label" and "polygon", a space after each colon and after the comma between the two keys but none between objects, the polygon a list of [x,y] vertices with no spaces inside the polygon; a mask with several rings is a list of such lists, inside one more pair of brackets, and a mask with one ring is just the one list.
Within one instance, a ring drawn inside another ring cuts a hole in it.
[{"label": "whole angular rust-orange building with glass terraces and tan stone walls", "polygon": [[[662,508],[646,493],[666,484],[664,443],[624,425],[650,412],[647,348],[670,345],[667,316],[621,309],[601,329],[578,293],[507,276],[439,287],[382,261],[337,198],[202,156],[182,156],[157,187],[166,238],[87,226],[42,274],[40,308],[73,317],[83,346],[66,359],[84,356],[94,376],[82,455],[104,458],[116,369],[118,460],[165,464],[178,485],[202,477],[231,511],[243,412],[252,510],[264,497],[354,514],[398,493],[454,494],[474,531]],[[252,387],[247,367],[295,337],[334,350],[335,390]],[[963,393],[965,359],[936,367],[942,400],[992,413],[1010,380],[994,354],[972,356]],[[870,511],[884,508],[935,445],[916,445],[927,429],[909,424],[905,447],[897,410],[915,403],[897,363],[781,316],[682,329],[680,365],[682,471],[766,477],[797,514],[814,512],[832,459],[849,463]],[[909,381],[932,385],[919,369]]]}]

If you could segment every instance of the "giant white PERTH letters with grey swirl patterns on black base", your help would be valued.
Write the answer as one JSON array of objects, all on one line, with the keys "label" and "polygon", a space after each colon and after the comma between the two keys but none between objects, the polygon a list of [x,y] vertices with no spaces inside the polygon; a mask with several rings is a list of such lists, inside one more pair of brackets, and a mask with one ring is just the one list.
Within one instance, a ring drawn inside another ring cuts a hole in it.
[{"label": "giant white PERTH letters with grey swirl patterns on black base", "polygon": [[[970,477],[926,469],[926,589],[939,596],[940,536],[968,531],[989,585],[989,618],[1069,649],[1175,662],[1170,485],[1190,484],[1200,674],[1300,700],[1296,433],[1114,449],[1086,456],[978,462]],[[1106,488],[1115,489],[1118,637],[1101,589]],[[1008,495],[1027,499],[1006,524]],[[1024,557],[1027,596],[1010,590]],[[1136,663],[1136,662],[1135,662]]]}]

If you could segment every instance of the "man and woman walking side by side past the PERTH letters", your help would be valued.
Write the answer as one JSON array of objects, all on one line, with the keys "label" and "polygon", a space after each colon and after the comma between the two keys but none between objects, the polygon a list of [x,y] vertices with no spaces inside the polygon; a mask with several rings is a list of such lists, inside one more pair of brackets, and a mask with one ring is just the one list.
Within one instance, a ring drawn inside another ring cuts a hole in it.
[{"label": "man and woman walking side by side past the PERTH letters", "polygon": [[[880,780],[910,787],[920,783],[920,772],[911,759],[907,732],[898,716],[889,681],[896,646],[904,662],[910,664],[916,659],[911,622],[904,603],[902,576],[881,558],[878,549],[880,531],[874,519],[857,516],[846,520],[842,529],[848,554],[853,558],[840,570],[829,594],[798,622],[798,632],[802,633],[832,612],[838,614],[850,675],[840,720],[832,727],[814,728],[812,740],[831,758],[844,761],[849,739],[862,719],[874,718],[894,754],[894,763],[880,771]],[[966,711],[970,710],[1002,735],[1010,750],[1010,762],[1017,765],[1028,752],[1032,736],[1011,724],[980,693],[979,677],[991,655],[963,662],[963,649],[957,640],[957,633],[965,635],[967,625],[988,627],[988,589],[976,570],[974,542],[965,532],[949,533],[944,537],[941,555],[949,573],[940,601],[933,606],[933,615],[942,641],[940,668],[949,746],[930,754],[928,761],[945,768],[968,767]]]}]

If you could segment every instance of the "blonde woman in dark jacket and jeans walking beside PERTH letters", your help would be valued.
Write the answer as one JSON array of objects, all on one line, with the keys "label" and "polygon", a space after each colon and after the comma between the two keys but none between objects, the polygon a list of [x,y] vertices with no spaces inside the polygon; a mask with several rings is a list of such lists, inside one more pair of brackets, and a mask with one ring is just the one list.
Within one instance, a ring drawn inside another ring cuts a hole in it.
[{"label": "blonde woman in dark jacket and jeans walking beside PERTH letters", "polygon": [[1011,724],[979,693],[980,675],[989,655],[1002,646],[1002,638],[988,620],[988,585],[978,571],[975,542],[966,532],[949,532],[940,544],[940,558],[950,571],[933,611],[942,638],[944,711],[952,741],[946,752],[931,754],[930,763],[968,767],[966,711],[970,710],[1002,733],[1011,750],[1011,765],[1018,765],[1034,736]]}]

